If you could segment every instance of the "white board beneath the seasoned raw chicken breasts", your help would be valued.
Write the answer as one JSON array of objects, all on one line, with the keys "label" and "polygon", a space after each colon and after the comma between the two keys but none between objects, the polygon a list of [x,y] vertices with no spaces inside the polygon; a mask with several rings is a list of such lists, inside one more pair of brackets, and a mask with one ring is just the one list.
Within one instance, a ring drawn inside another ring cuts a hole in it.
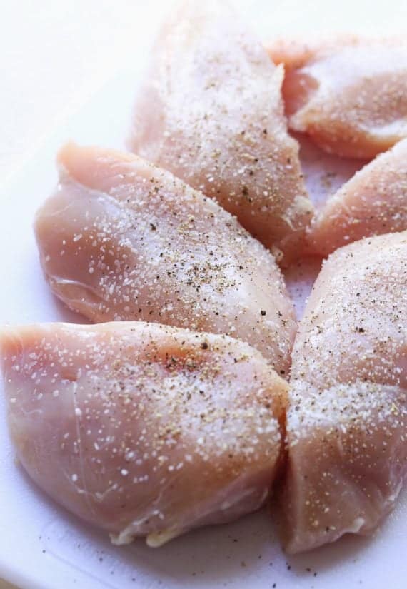
[{"label": "white board beneath the seasoned raw chicken breasts", "polygon": [[[261,23],[263,36],[266,31],[270,31],[270,36],[277,30],[281,32],[280,25],[284,31],[298,31],[303,23],[308,23],[309,29],[315,21],[321,24],[330,20],[331,28],[334,26],[326,2],[322,1],[303,2],[301,6],[296,1],[282,2],[273,9],[268,2],[241,4],[252,21],[257,19]],[[358,4],[359,23],[353,30],[363,28],[362,4],[366,4],[366,9],[371,6],[370,2]],[[325,12],[321,12],[324,6]],[[346,28],[343,23],[348,21],[351,11],[348,2],[339,17],[342,29]],[[377,15],[379,24],[380,11]],[[392,11],[391,19],[394,25],[397,16]],[[391,19],[386,21],[387,30]],[[41,275],[31,223],[36,208],[54,186],[55,153],[66,139],[123,147],[136,70],[143,63],[141,57],[136,66],[120,71],[89,99],[4,188],[0,196],[0,323],[81,321],[51,296]],[[310,174],[308,185],[321,196],[327,189],[326,178],[321,177],[315,153],[312,157],[308,153],[305,158]],[[333,158],[324,157],[323,163],[337,169]],[[332,189],[353,168],[342,166]],[[288,276],[290,288],[301,313],[309,288],[308,274],[304,278],[297,274],[296,281],[292,275],[293,272]],[[197,530],[156,550],[147,548],[142,540],[116,548],[103,533],[82,524],[51,502],[16,465],[1,394],[0,423],[0,577],[21,589],[379,589],[385,585],[406,588],[407,493],[403,493],[396,510],[371,540],[345,538],[295,558],[282,553],[266,512],[232,525]]]}]

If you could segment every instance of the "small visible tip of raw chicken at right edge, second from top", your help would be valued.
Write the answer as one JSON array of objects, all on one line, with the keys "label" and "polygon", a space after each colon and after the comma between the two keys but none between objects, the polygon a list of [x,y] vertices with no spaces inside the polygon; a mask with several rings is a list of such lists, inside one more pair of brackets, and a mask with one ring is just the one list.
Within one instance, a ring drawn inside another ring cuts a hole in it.
[{"label": "small visible tip of raw chicken at right edge, second from top", "polygon": [[356,173],[315,219],[309,243],[327,256],[363,237],[407,229],[407,139]]}]

